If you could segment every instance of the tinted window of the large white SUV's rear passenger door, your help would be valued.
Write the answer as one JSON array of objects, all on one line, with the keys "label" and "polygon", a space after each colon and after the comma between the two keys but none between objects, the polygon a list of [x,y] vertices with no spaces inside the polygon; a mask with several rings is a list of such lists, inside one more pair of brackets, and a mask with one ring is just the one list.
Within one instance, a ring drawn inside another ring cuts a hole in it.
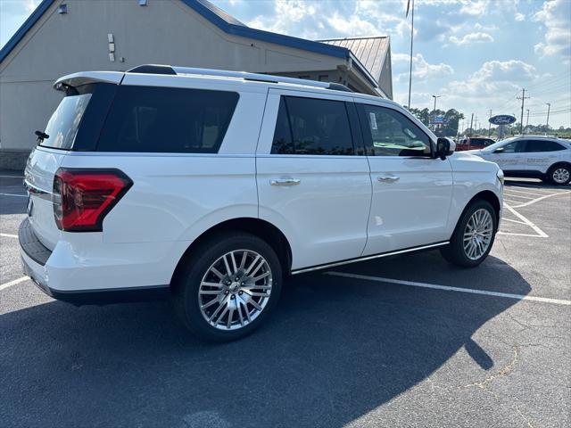
[{"label": "tinted window of the large white SUV's rear passenger door", "polygon": [[282,96],[271,148],[276,154],[354,154],[345,103]]}]

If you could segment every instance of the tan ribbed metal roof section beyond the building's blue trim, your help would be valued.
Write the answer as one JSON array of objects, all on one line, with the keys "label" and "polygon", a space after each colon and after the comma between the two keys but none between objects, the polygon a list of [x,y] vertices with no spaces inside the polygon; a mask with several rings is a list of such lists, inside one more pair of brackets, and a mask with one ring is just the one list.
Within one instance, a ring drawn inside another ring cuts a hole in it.
[{"label": "tan ribbed metal roof section beyond the building's blue trim", "polygon": [[327,45],[342,46],[350,49],[361,64],[377,81],[385,65],[389,50],[389,37],[349,37],[319,40]]}]

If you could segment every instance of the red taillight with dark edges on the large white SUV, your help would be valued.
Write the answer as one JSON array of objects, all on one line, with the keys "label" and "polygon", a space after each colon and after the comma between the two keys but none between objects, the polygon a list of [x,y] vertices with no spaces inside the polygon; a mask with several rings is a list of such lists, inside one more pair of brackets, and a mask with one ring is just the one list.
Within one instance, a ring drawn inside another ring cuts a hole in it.
[{"label": "red taillight with dark edges on the large white SUV", "polygon": [[119,169],[58,169],[54,218],[67,232],[101,232],[103,218],[133,182]]}]

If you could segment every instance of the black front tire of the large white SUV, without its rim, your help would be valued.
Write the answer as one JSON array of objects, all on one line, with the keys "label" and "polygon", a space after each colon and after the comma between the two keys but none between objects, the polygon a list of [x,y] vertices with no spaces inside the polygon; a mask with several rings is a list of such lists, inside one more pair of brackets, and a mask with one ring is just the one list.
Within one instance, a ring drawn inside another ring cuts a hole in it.
[{"label": "black front tire of the large white SUV, without its rim", "polygon": [[[487,210],[492,216],[492,238],[488,248],[480,257],[477,259],[470,259],[466,250],[464,249],[464,232],[467,228],[468,220],[477,210]],[[478,266],[484,261],[486,257],[488,257],[488,254],[492,250],[497,228],[498,215],[496,210],[493,209],[492,204],[481,199],[471,202],[460,216],[458,224],[454,229],[454,233],[451,236],[450,243],[445,247],[442,247],[440,252],[443,255],[444,259],[454,265],[460,266],[462,268],[476,268],[476,266]]]}]

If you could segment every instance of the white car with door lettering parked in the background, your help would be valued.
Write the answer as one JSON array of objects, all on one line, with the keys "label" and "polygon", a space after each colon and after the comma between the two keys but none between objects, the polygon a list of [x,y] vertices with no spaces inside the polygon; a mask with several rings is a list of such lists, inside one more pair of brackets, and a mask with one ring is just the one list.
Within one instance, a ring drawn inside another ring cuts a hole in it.
[{"label": "white car with door lettering parked in the background", "polygon": [[550,136],[514,136],[470,153],[497,163],[506,177],[536,177],[554,185],[571,181],[571,143]]}]

